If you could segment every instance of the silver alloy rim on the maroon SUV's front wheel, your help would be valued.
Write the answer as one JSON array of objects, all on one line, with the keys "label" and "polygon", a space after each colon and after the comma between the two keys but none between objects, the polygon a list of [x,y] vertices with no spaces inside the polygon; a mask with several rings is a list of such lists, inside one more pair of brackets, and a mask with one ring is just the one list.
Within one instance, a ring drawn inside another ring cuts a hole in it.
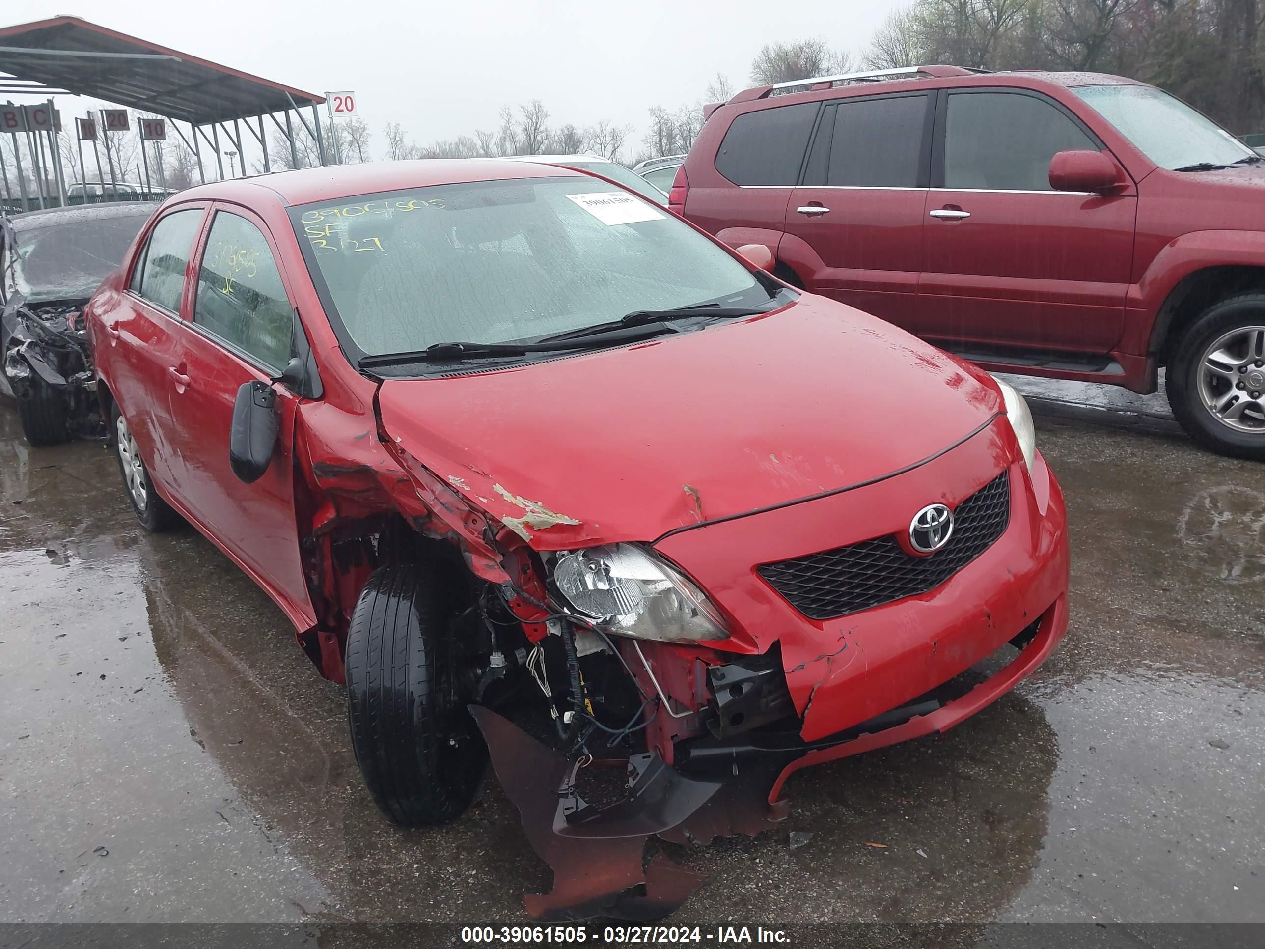
[{"label": "silver alloy rim on the maroon SUV's front wheel", "polygon": [[1265,434],[1265,326],[1237,326],[1199,359],[1199,400],[1222,425]]}]

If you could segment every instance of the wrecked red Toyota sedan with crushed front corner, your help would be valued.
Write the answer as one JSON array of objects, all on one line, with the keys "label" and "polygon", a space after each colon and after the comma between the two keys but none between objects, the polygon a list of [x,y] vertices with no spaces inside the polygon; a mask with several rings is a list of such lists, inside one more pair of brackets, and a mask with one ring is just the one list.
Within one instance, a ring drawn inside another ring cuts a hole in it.
[{"label": "wrecked red Toyota sedan with crushed front corner", "polygon": [[89,305],[140,523],[347,683],[391,820],[458,816],[491,753],[535,916],[669,911],[697,879],[648,835],[770,826],[1066,629],[1022,397],[759,263],[596,176],[396,162],[183,191]]}]

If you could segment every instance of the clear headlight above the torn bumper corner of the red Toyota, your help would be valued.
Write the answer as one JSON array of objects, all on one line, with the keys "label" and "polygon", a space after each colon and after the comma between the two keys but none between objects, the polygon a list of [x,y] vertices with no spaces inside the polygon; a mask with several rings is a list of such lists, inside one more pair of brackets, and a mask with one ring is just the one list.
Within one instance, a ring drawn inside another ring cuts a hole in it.
[{"label": "clear headlight above the torn bumper corner of the red Toyota", "polygon": [[635,544],[607,544],[558,559],[554,586],[603,633],[662,643],[727,639],[706,593]]}]

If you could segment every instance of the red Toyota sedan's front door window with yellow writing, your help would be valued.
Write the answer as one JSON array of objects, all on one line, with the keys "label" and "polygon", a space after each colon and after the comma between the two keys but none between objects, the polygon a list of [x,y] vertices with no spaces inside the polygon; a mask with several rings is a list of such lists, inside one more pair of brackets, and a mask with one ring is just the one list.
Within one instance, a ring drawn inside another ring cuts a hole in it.
[{"label": "red Toyota sedan's front door window with yellow writing", "polygon": [[218,211],[197,270],[194,323],[272,369],[290,361],[293,310],[263,233]]}]

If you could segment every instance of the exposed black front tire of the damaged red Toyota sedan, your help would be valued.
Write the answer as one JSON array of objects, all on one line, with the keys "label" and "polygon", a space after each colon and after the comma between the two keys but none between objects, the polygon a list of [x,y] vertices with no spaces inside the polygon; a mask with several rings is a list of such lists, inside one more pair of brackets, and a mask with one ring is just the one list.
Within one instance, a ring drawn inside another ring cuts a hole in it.
[{"label": "exposed black front tire of the damaged red Toyota sedan", "polygon": [[487,763],[458,685],[445,576],[434,559],[379,568],[347,635],[355,760],[378,809],[410,828],[459,816]]}]

